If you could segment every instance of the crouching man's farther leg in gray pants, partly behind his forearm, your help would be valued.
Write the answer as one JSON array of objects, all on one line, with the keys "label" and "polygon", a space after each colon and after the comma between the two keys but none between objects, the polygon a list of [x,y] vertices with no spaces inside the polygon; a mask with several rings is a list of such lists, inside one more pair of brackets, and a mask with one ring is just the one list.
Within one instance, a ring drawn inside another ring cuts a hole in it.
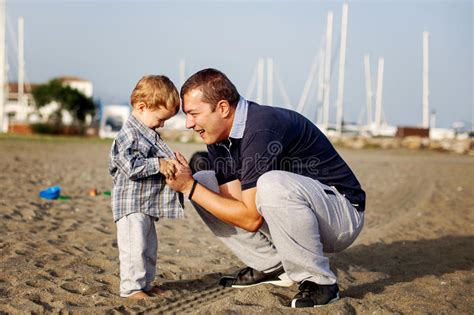
[{"label": "crouching man's farther leg in gray pants, partly behind his forearm", "polygon": [[[198,172],[194,174],[194,178],[201,185],[214,192],[219,192],[219,186],[213,171]],[[219,220],[194,202],[193,205],[217,238],[227,245],[247,266],[258,271],[271,271],[281,264],[275,246],[268,237],[269,232],[266,224],[258,232],[251,233]]]}]

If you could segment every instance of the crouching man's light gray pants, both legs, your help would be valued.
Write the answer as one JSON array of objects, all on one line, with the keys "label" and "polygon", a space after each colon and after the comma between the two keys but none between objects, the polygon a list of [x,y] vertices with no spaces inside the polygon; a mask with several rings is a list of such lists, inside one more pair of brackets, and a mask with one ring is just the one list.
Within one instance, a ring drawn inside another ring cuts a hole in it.
[{"label": "crouching man's light gray pants, both legs", "polygon": [[[201,171],[194,177],[219,192],[213,171]],[[193,203],[211,231],[247,266],[270,271],[283,264],[294,282],[336,282],[323,252],[349,247],[362,230],[364,212],[357,211],[334,187],[284,171],[267,172],[259,178],[256,204],[265,223],[252,233]]]}]

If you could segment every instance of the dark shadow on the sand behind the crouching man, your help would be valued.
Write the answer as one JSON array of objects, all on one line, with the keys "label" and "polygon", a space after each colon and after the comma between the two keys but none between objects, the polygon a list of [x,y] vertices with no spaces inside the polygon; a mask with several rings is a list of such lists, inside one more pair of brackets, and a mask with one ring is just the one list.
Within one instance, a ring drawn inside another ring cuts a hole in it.
[{"label": "dark shadow on the sand behind the crouching man", "polygon": [[371,283],[350,286],[343,295],[363,298],[380,293],[386,286],[411,282],[424,276],[441,276],[474,266],[474,236],[443,236],[438,239],[397,241],[351,247],[334,256],[333,267],[348,271],[350,266],[387,275]]}]

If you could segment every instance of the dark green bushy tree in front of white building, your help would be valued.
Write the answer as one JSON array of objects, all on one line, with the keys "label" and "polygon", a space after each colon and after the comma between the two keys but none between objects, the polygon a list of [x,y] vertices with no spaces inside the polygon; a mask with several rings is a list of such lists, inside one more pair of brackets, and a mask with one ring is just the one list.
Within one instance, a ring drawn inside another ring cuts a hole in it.
[{"label": "dark green bushy tree in front of white building", "polygon": [[74,122],[83,126],[88,114],[94,115],[96,105],[92,98],[70,86],[63,85],[58,79],[53,79],[46,84],[41,84],[33,89],[33,97],[37,108],[41,108],[53,101],[59,104],[58,110],[51,115],[50,122],[61,124],[61,111],[68,111]]}]

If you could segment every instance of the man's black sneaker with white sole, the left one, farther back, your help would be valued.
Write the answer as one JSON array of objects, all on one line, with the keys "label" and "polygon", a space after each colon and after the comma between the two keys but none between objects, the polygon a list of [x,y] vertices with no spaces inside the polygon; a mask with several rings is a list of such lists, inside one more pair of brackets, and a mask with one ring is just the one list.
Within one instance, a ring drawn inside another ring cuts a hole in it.
[{"label": "man's black sneaker with white sole, the left one, farther back", "polygon": [[219,281],[224,287],[247,288],[259,284],[273,284],[280,287],[289,287],[293,282],[288,278],[283,267],[275,271],[264,273],[250,267],[240,270],[237,276],[225,276]]}]

